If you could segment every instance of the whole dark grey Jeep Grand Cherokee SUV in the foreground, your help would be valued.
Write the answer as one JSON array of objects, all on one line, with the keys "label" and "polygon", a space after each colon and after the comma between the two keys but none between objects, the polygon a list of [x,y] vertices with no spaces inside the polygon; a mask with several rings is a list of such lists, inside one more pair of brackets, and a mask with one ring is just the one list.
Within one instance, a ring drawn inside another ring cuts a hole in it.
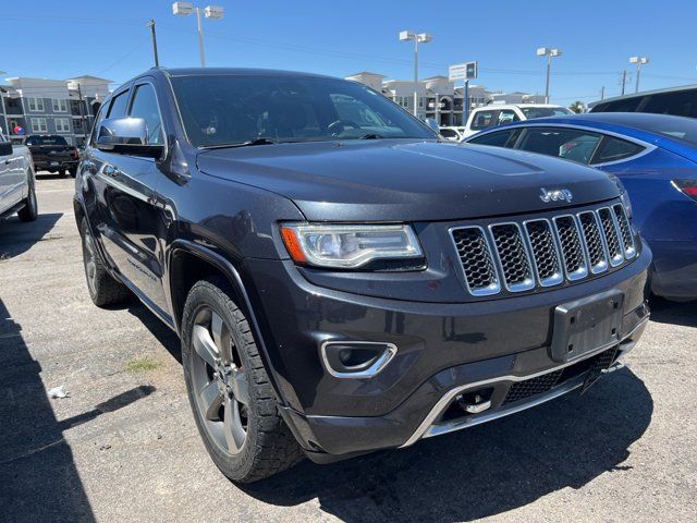
[{"label": "whole dark grey Jeep Grand Cherokee SUV in the foreground", "polygon": [[91,300],[133,293],[181,337],[236,482],[585,389],[648,320],[651,254],[604,173],[445,143],[355,82],[150,70],[75,186]]}]

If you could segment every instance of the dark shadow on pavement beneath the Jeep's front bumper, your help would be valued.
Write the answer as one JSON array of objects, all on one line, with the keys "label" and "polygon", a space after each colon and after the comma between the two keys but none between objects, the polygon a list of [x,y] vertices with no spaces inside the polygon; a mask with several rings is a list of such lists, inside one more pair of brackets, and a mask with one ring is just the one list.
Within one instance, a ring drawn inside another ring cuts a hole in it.
[{"label": "dark shadow on pavement beneath the Jeep's front bumper", "polygon": [[628,369],[486,425],[335,463],[304,462],[247,494],[294,506],[317,498],[343,521],[468,521],[523,507],[603,473],[623,474],[653,402]]}]

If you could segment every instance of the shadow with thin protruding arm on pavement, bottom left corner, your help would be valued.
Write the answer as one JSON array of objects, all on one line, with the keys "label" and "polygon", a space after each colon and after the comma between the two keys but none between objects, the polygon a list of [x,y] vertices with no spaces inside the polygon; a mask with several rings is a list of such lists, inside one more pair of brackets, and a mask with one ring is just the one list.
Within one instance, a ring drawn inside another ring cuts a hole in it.
[{"label": "shadow with thin protruding arm on pavement, bottom left corner", "polygon": [[[136,387],[59,422],[35,361],[0,300],[0,521],[93,522],[63,430],[151,393]],[[56,400],[63,401],[63,400]]]}]

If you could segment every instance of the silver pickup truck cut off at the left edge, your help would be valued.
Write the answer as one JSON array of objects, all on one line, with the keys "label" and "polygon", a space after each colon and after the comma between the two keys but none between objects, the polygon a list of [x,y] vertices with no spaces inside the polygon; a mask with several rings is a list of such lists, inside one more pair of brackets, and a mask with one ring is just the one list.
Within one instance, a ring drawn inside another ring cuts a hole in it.
[{"label": "silver pickup truck cut off at the left edge", "polygon": [[12,145],[0,131],[0,218],[17,214],[22,221],[38,216],[32,155]]}]

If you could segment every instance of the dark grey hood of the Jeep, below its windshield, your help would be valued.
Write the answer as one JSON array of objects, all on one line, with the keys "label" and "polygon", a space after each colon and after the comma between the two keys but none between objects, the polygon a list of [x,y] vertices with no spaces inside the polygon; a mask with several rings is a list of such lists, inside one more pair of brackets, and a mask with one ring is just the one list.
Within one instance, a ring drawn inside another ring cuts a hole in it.
[{"label": "dark grey hood of the Jeep, below its windshield", "polygon": [[[211,149],[209,175],[290,198],[311,221],[432,221],[524,214],[617,196],[607,174],[567,160],[476,145],[376,139]],[[567,190],[571,203],[543,202]]]}]

